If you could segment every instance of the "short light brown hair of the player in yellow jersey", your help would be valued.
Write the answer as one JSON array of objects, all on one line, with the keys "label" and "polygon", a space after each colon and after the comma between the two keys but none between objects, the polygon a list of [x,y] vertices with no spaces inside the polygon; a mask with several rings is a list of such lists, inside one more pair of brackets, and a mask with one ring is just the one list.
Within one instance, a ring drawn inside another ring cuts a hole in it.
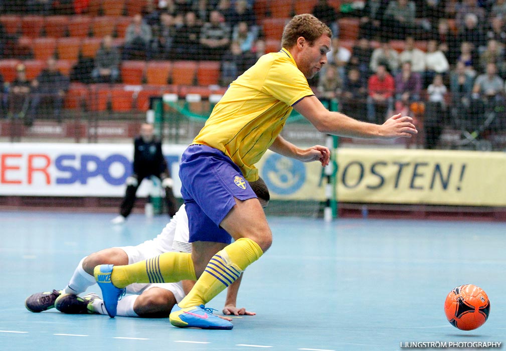
[{"label": "short light brown hair of the player in yellow jersey", "polygon": [[281,46],[291,48],[296,45],[297,39],[301,36],[312,46],[314,41],[323,34],[329,38],[332,37],[332,31],[325,23],[311,14],[297,15],[284,27]]}]

